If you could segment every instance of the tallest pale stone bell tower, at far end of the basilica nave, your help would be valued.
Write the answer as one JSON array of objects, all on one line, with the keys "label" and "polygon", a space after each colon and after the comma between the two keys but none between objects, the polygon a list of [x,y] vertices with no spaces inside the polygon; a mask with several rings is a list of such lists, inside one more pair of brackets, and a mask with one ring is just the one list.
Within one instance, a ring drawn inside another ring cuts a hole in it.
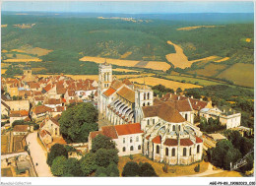
[{"label": "tallest pale stone bell tower, at far end of the basilica nave", "polygon": [[98,66],[98,87],[97,87],[97,106],[99,113],[103,112],[104,99],[102,93],[104,93],[112,83],[112,65],[106,63],[99,64]]}]

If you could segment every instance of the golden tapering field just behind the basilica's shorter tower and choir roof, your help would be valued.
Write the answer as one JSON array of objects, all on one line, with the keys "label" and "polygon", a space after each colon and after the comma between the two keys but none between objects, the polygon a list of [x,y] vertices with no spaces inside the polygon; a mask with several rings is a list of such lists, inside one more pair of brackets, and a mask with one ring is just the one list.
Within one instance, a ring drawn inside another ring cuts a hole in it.
[{"label": "golden tapering field just behind the basilica's shorter tower and choir roof", "polygon": [[187,83],[179,83],[179,82],[174,82],[170,80],[164,80],[160,78],[155,78],[155,77],[147,77],[147,78],[129,78],[130,81],[132,82],[137,82],[138,84],[145,84],[149,86],[157,86],[157,85],[162,85],[165,86],[166,88],[170,88],[173,90],[177,90],[180,88],[181,90],[185,89],[192,89],[192,88],[202,88],[202,86],[197,86],[193,84],[187,84]]}]

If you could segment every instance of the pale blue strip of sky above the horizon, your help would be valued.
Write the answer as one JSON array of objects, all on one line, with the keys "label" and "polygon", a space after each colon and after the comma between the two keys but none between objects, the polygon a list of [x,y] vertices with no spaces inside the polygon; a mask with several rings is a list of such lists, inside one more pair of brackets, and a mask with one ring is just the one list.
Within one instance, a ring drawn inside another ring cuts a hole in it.
[{"label": "pale blue strip of sky above the horizon", "polygon": [[9,1],[2,11],[85,12],[85,13],[253,13],[253,1]]}]

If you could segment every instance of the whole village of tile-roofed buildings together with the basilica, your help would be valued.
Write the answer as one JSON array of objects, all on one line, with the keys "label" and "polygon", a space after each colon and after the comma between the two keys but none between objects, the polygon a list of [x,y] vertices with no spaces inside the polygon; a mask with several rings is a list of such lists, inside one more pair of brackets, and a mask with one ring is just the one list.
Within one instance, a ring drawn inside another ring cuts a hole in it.
[{"label": "whole village of tile-roofed buildings together with the basilica", "polygon": [[[151,87],[118,80],[112,66],[99,65],[98,82],[73,80],[65,75],[38,78],[26,67],[22,78],[1,77],[1,169],[3,176],[38,176],[28,147],[28,136],[47,154],[54,144],[66,145],[58,122],[70,105],[91,102],[101,123],[88,143],[69,144],[77,150],[69,156],[80,159],[92,149],[97,135],[109,137],[119,156],[142,154],[170,165],[188,165],[202,160],[203,151],[225,139],[220,133],[203,133],[195,118],[219,119],[225,129],[243,136],[251,129],[240,126],[241,113],[217,107],[212,101],[180,93],[154,96]],[[45,163],[45,162],[44,162]]]}]

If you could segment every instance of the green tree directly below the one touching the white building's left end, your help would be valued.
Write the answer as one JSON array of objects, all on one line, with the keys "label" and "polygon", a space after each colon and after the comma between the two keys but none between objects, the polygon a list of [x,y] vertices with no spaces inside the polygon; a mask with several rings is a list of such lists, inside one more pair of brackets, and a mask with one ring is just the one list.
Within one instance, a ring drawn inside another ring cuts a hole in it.
[{"label": "green tree directly below the one touching the white building's left end", "polygon": [[96,151],[96,165],[107,167],[111,162],[118,163],[117,150],[99,149]]}]

